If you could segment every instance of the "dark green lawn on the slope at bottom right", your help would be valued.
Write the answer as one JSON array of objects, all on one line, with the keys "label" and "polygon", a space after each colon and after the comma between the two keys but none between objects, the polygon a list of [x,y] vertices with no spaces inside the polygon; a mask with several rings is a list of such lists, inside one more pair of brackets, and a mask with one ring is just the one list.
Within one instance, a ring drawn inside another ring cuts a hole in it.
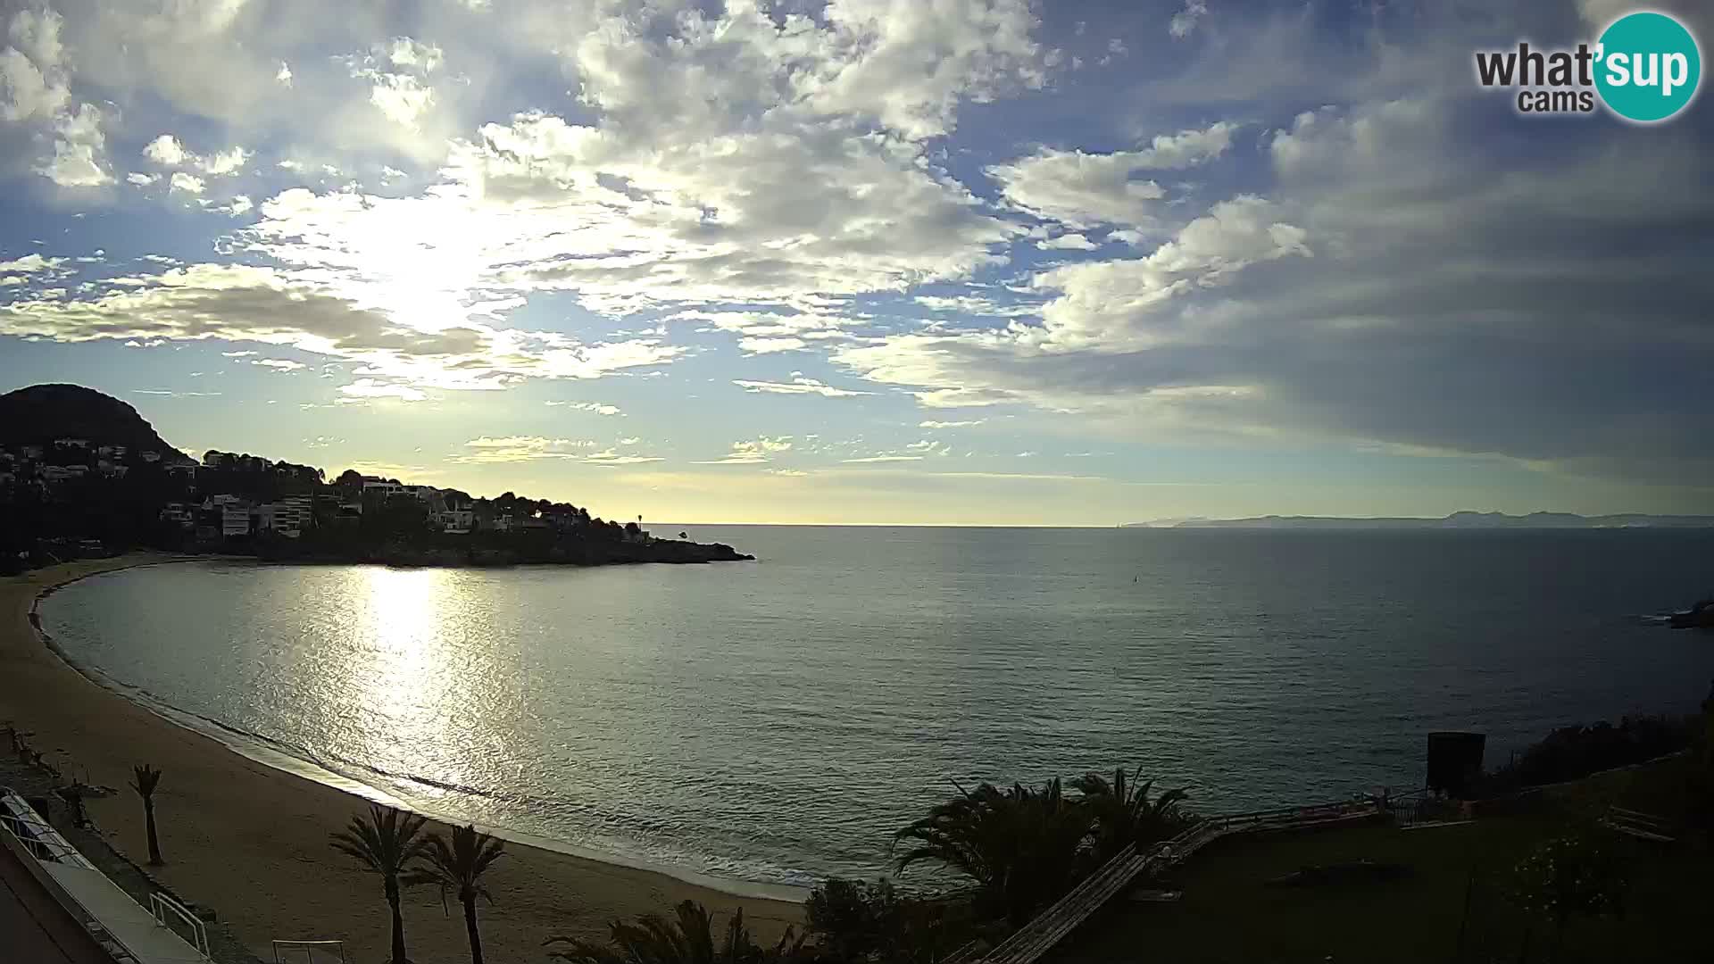
[{"label": "dark green lawn on the slope at bottom right", "polygon": [[[1551,794],[1531,811],[1462,827],[1368,825],[1220,840],[1162,883],[1183,889],[1181,902],[1114,901],[1049,959],[1711,962],[1714,868],[1707,851],[1687,844],[1616,839],[1628,875],[1625,919],[1573,921],[1556,957],[1548,926],[1532,928],[1525,952],[1525,919],[1503,895],[1510,868],[1539,840],[1567,832],[1567,822],[1579,813],[1606,803],[1668,813],[1664,804],[1683,796],[1683,763],[1596,777]],[[1306,865],[1357,859],[1405,865],[1411,873],[1378,883],[1263,885]]]}]

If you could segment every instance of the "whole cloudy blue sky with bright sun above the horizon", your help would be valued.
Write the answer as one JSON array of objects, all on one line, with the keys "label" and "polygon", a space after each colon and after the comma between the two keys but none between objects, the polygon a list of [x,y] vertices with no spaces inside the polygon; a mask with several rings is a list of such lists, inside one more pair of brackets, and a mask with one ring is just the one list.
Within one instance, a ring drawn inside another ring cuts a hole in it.
[{"label": "whole cloudy blue sky with bright sun above the horizon", "polygon": [[0,0],[0,389],[608,518],[1714,513],[1709,99],[1472,67],[1627,10]]}]

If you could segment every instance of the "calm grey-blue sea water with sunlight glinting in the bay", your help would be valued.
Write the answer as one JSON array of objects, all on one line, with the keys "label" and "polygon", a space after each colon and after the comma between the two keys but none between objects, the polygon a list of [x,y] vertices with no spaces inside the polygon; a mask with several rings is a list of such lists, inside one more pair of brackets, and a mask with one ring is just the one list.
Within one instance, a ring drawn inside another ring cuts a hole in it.
[{"label": "calm grey-blue sea water with sunlight glinting in the bay", "polygon": [[[679,527],[668,527],[677,530]],[[1138,765],[1205,810],[1688,710],[1714,532],[691,527],[758,563],[195,563],[43,607],[74,660],[434,813],[716,877],[874,875],[950,780]]]}]

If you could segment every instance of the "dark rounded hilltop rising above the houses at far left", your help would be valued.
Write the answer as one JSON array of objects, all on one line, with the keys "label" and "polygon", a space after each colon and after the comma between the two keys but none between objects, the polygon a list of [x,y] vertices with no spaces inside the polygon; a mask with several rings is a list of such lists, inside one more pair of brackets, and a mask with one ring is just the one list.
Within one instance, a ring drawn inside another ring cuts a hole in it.
[{"label": "dark rounded hilltop rising above the houses at far left", "polygon": [[89,439],[98,446],[158,451],[166,461],[192,461],[166,443],[135,408],[81,384],[33,384],[0,395],[0,446]]}]

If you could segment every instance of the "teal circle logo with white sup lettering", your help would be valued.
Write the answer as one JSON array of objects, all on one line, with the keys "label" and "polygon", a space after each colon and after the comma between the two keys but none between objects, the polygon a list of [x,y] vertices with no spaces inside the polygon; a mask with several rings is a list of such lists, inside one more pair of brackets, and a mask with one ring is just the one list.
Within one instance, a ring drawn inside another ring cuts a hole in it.
[{"label": "teal circle logo with white sup lettering", "polygon": [[1639,124],[1690,106],[1702,84],[1702,51],[1683,24],[1652,10],[1613,21],[1596,46],[1596,89],[1608,108]]}]

